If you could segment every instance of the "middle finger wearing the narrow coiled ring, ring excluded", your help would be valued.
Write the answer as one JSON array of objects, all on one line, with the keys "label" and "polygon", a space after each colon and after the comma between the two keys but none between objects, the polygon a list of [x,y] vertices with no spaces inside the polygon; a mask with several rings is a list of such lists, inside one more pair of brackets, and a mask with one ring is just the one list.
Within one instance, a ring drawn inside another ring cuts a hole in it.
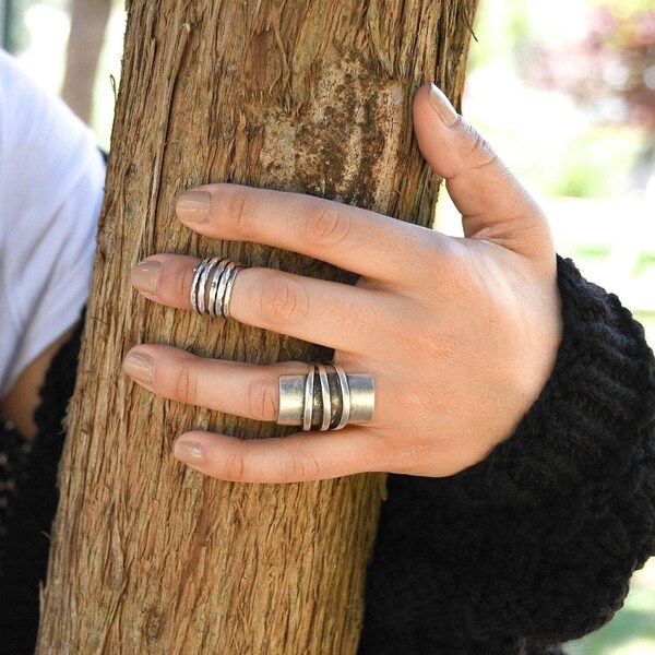
[{"label": "middle finger wearing the narrow coiled ring, ring excluded", "polygon": [[[156,254],[136,264],[132,284],[150,300],[191,309],[190,290],[199,260]],[[242,323],[295,336],[329,348],[361,353],[383,334],[392,311],[380,289],[367,289],[271,269],[243,269],[229,303]]]}]

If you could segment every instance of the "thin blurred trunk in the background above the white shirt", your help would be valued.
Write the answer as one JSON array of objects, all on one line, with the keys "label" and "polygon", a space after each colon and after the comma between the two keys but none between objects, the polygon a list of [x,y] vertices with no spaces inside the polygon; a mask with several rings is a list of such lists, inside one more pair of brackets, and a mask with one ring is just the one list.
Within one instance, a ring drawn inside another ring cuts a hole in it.
[{"label": "thin blurred trunk in the background above the white shirt", "polygon": [[105,40],[111,0],[73,0],[61,97],[84,121],[91,121],[93,87]]}]

